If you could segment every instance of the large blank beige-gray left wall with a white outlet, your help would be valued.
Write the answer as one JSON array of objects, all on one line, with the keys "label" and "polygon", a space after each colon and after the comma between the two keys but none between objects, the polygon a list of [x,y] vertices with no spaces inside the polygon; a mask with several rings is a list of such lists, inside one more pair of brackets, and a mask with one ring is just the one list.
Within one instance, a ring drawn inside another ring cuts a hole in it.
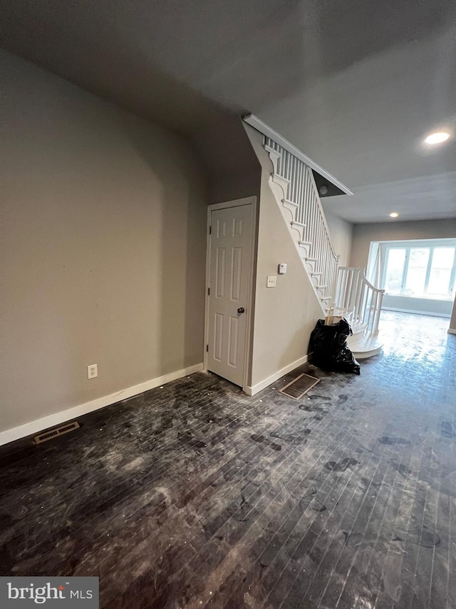
[{"label": "large blank beige-gray left wall with a white outlet", "polygon": [[1,61],[0,431],[202,362],[207,213],[185,140]]}]

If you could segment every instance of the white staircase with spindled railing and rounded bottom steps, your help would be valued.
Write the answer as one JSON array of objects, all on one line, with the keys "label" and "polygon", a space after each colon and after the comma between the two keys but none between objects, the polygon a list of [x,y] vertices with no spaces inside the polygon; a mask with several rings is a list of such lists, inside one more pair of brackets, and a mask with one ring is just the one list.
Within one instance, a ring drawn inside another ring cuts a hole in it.
[{"label": "white staircase with spindled railing and rounded bottom steps", "polygon": [[274,167],[271,191],[311,280],[323,317],[345,317],[353,336],[348,346],[356,358],[381,351],[378,321],[383,290],[375,288],[361,268],[338,268],[314,174],[291,152],[264,136],[263,146]]}]

